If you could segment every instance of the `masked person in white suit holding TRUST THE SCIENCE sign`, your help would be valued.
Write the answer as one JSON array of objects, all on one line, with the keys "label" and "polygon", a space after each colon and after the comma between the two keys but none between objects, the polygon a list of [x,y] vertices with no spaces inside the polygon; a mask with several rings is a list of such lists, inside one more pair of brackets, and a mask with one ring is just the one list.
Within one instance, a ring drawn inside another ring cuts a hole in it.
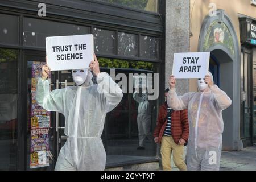
[{"label": "masked person in white suit holding TRUST THE SCIENCE sign", "polygon": [[36,100],[48,111],[59,111],[65,116],[67,142],[61,148],[55,170],[104,170],[106,152],[101,140],[106,113],[122,100],[123,93],[108,73],[100,72],[97,57],[89,65],[97,76],[93,85],[88,69],[72,70],[77,86],[49,92],[47,80],[50,69],[42,68]]}]

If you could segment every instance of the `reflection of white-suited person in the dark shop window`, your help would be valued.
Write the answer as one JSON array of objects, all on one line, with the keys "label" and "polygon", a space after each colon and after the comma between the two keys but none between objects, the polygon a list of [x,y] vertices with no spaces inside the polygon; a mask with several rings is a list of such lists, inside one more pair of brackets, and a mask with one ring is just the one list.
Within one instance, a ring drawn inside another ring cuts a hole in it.
[{"label": "reflection of white-suited person in the dark shop window", "polygon": [[146,137],[152,142],[154,140],[153,135],[150,131],[151,129],[151,106],[148,101],[148,95],[142,93],[142,97],[139,97],[137,92],[134,92],[133,98],[139,103],[138,106],[138,133],[139,133],[139,147],[138,150],[145,149],[145,139]]}]

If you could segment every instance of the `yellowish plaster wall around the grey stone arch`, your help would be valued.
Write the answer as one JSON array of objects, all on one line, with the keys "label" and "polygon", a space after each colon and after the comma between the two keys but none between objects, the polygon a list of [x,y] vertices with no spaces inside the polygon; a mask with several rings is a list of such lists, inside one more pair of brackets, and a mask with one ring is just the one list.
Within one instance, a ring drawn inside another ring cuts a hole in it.
[{"label": "yellowish plaster wall around the grey stone arch", "polygon": [[[191,6],[191,32],[193,37],[190,39],[190,51],[197,52],[201,25],[204,18],[209,14],[209,4],[215,3],[217,9],[225,10],[225,13],[231,19],[234,29],[237,33],[238,42],[240,42],[238,14],[247,15],[256,19],[256,6],[251,5],[251,0],[190,0]],[[192,10],[193,9],[193,10]],[[189,82],[191,91],[197,90],[196,80]]]}]

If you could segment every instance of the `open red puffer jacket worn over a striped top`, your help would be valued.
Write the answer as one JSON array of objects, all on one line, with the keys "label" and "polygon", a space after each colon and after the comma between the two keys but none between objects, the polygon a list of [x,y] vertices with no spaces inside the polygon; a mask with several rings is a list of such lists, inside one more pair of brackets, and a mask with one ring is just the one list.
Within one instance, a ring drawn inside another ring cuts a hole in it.
[{"label": "open red puffer jacket worn over a striped top", "polygon": [[[160,106],[158,120],[154,131],[154,137],[158,137],[158,143],[161,142],[164,129],[167,125],[167,102]],[[171,132],[174,142],[179,144],[179,140],[183,138],[188,141],[189,126],[188,126],[188,110],[173,111],[171,114]]]}]

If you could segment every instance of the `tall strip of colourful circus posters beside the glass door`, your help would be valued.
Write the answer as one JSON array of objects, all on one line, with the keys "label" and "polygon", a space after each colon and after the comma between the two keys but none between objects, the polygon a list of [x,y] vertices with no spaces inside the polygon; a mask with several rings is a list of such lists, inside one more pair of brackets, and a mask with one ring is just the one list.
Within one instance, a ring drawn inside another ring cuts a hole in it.
[{"label": "tall strip of colourful circus posters beside the glass door", "polygon": [[[44,110],[36,102],[36,85],[42,76],[44,63],[33,61],[31,69],[31,143],[30,143],[30,168],[49,166],[49,127],[51,126],[50,112]],[[50,76],[49,76],[50,77]]]}]

